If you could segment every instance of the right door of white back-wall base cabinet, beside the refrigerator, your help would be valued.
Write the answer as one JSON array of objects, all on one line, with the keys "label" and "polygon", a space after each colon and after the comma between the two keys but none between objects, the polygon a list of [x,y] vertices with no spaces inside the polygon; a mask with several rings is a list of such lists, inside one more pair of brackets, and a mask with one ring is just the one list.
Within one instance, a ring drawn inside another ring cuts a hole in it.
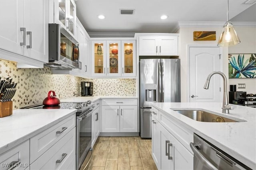
[{"label": "right door of white back-wall base cabinet, beside the refrigerator", "polygon": [[120,132],[138,131],[137,112],[137,106],[120,106]]}]

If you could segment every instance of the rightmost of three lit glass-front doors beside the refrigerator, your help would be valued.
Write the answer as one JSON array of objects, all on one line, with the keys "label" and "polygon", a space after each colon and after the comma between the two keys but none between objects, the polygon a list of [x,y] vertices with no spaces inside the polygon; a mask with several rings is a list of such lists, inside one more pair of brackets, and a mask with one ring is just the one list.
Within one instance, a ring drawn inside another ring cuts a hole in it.
[{"label": "rightmost of three lit glass-front doors beside the refrigerator", "polygon": [[122,40],[122,76],[136,76],[135,40]]}]

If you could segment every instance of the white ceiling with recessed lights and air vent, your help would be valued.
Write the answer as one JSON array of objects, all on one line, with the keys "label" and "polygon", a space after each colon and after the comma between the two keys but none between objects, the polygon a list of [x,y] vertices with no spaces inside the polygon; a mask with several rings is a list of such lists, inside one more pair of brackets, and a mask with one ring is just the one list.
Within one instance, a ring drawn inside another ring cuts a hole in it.
[{"label": "white ceiling with recessed lights and air vent", "polygon": [[[256,4],[244,4],[245,1],[229,0],[231,21],[256,22]],[[120,15],[120,9],[134,9],[135,12],[134,15]],[[76,0],[76,10],[89,33],[173,33],[179,21],[224,24],[227,20],[227,0]],[[106,18],[98,19],[100,14]],[[169,17],[161,20],[163,14]]]}]

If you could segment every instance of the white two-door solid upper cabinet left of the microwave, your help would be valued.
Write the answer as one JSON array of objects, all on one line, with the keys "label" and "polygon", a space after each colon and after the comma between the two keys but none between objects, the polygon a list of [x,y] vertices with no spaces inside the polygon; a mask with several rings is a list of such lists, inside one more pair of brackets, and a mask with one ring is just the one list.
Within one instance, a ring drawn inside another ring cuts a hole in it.
[{"label": "white two-door solid upper cabinet left of the microwave", "polygon": [[24,68],[48,62],[48,7],[45,0],[0,1],[0,58]]}]

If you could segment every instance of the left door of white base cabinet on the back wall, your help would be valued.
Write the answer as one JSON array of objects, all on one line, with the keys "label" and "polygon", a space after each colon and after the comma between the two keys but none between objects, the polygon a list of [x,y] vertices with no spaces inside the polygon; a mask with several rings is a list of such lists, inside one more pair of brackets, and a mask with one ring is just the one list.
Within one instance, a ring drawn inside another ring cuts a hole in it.
[{"label": "left door of white base cabinet on the back wall", "polygon": [[102,106],[102,132],[119,132],[119,106]]}]

